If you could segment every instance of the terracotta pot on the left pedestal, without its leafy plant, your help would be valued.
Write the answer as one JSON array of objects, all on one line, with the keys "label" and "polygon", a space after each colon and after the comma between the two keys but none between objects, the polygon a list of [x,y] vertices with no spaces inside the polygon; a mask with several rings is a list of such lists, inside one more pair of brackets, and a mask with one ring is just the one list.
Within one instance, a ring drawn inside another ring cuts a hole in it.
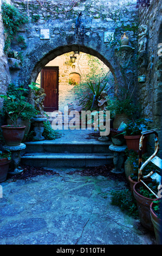
[{"label": "terracotta pot on the left pedestal, without its leafy plant", "polygon": [[24,137],[26,126],[2,125],[3,137],[8,146],[18,146]]}]

